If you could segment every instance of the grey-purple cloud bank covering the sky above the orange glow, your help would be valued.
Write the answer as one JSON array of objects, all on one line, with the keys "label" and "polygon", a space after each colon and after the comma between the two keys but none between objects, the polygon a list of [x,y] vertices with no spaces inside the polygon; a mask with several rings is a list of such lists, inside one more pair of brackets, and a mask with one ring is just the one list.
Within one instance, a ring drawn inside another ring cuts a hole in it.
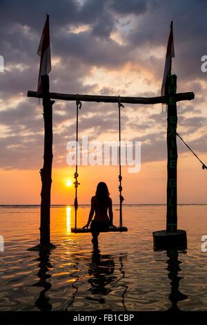
[{"label": "grey-purple cloud bank covering the sky above the orange glow", "polygon": [[[200,58],[207,53],[206,6],[204,0],[1,0],[0,55],[6,72],[0,75],[0,167],[29,169],[42,163],[42,109],[26,93],[37,88],[36,52],[46,12],[54,59],[50,91],[59,93],[158,95],[173,19],[177,89],[196,95],[193,102],[178,105],[179,131],[204,152],[207,84]],[[117,84],[108,82],[112,73]],[[126,105],[121,112],[124,137],[143,142],[144,161],[166,159],[166,114],[161,114],[161,106],[158,110]],[[53,111],[54,164],[63,166],[66,143],[75,138],[75,103],[56,101]],[[91,140],[116,135],[115,105],[83,103],[79,123]]]}]

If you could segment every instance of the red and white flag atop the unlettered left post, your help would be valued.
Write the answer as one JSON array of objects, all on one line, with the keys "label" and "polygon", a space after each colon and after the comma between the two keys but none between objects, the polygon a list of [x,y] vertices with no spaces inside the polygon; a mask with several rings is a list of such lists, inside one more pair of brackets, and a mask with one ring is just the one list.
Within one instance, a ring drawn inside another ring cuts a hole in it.
[{"label": "red and white flag atop the unlettered left post", "polygon": [[41,93],[42,92],[41,75],[48,75],[48,73],[51,71],[49,15],[47,15],[46,18],[46,24],[43,28],[37,54],[40,56],[39,79],[38,79],[37,91]]}]

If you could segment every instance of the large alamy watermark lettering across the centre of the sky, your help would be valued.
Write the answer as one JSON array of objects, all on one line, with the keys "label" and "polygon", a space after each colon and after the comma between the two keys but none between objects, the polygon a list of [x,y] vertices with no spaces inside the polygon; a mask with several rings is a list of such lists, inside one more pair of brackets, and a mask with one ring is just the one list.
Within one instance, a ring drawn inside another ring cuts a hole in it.
[{"label": "large alamy watermark lettering across the centre of the sky", "polygon": [[[69,166],[116,166],[119,165],[119,141],[88,142],[88,136],[82,136],[81,142],[69,141],[66,149],[66,161]],[[128,173],[138,173],[141,169],[141,142],[120,142],[121,166],[128,166]]]}]

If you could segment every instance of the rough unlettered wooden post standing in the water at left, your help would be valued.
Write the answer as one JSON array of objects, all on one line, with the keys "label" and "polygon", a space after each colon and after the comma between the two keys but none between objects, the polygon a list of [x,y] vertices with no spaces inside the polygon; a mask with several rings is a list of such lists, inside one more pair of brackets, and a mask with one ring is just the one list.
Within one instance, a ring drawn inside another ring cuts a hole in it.
[{"label": "rough unlettered wooden post standing in the water at left", "polygon": [[40,221],[40,244],[50,245],[50,192],[52,185],[52,105],[50,100],[49,77],[41,76],[43,89],[43,118],[44,118],[44,156],[41,175],[41,221]]}]

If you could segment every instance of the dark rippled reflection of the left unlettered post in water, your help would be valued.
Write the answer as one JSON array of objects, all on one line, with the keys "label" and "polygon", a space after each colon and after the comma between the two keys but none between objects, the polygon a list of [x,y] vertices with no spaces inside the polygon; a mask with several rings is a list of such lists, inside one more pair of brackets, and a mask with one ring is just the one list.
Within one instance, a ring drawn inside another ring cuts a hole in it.
[{"label": "dark rippled reflection of the left unlettered post in water", "polygon": [[33,286],[43,288],[43,290],[41,290],[39,293],[39,297],[35,301],[35,306],[41,311],[50,311],[52,310],[52,304],[49,302],[50,298],[46,297],[46,293],[52,287],[52,284],[47,281],[51,277],[51,275],[48,274],[48,270],[52,268],[52,265],[50,263],[50,250],[39,250],[39,258],[35,259],[35,261],[39,261],[39,272],[37,273],[39,281],[36,284],[33,284]]}]

